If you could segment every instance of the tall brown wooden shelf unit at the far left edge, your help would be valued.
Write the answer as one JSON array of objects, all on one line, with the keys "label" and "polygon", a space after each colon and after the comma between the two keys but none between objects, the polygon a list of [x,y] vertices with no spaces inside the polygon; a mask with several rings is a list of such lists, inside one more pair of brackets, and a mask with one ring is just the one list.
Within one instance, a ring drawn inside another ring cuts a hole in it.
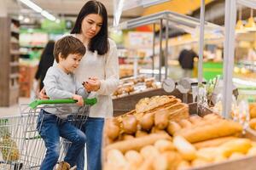
[{"label": "tall brown wooden shelf unit at the far left edge", "polygon": [[[18,103],[20,91],[20,21],[10,17],[0,17],[0,107]],[[4,81],[5,80],[5,81]]]}]

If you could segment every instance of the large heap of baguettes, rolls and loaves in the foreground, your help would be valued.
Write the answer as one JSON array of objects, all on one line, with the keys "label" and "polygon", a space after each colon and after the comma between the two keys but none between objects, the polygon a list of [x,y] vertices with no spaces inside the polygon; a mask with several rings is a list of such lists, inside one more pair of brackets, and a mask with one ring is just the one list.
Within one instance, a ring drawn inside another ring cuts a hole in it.
[{"label": "large heap of baguettes, rolls and loaves in the foreground", "polygon": [[189,116],[188,105],[174,96],[141,99],[134,111],[110,120],[102,150],[107,170],[203,169],[256,156],[256,143],[241,138],[238,122],[218,114]]}]

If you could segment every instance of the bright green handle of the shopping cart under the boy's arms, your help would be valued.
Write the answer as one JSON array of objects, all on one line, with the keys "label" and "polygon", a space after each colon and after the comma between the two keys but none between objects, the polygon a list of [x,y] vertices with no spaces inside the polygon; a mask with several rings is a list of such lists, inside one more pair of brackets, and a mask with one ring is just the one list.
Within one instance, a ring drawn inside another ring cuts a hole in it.
[{"label": "bright green handle of the shopping cart under the boy's arms", "polygon": [[[47,104],[74,104],[78,100],[75,99],[37,99],[29,104],[30,108],[35,109],[38,105],[47,105]],[[84,104],[86,105],[95,105],[97,103],[96,98],[84,99]]]}]

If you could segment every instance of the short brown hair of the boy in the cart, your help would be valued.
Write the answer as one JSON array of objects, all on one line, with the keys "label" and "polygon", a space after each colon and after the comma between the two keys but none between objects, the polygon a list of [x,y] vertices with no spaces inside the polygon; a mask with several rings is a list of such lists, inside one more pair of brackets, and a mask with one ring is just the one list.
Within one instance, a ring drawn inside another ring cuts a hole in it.
[{"label": "short brown hair of the boy in the cart", "polygon": [[67,59],[69,54],[79,54],[84,56],[86,49],[83,42],[73,36],[62,37],[55,42],[54,55],[56,62],[59,63],[59,54],[61,58]]}]

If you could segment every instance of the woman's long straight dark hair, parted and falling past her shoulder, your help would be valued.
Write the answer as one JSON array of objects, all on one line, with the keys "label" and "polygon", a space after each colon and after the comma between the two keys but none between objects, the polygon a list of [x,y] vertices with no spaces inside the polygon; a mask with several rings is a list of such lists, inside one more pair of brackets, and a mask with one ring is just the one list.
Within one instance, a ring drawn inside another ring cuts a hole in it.
[{"label": "woman's long straight dark hair, parted and falling past her shoulder", "polygon": [[97,33],[97,35],[91,38],[88,48],[90,51],[97,51],[98,54],[107,54],[109,49],[108,44],[108,14],[105,6],[98,1],[88,1],[84,4],[84,7],[81,8],[78,18],[73,26],[72,34],[81,33],[81,26],[84,17],[88,14],[99,14],[102,16],[102,28]]}]

